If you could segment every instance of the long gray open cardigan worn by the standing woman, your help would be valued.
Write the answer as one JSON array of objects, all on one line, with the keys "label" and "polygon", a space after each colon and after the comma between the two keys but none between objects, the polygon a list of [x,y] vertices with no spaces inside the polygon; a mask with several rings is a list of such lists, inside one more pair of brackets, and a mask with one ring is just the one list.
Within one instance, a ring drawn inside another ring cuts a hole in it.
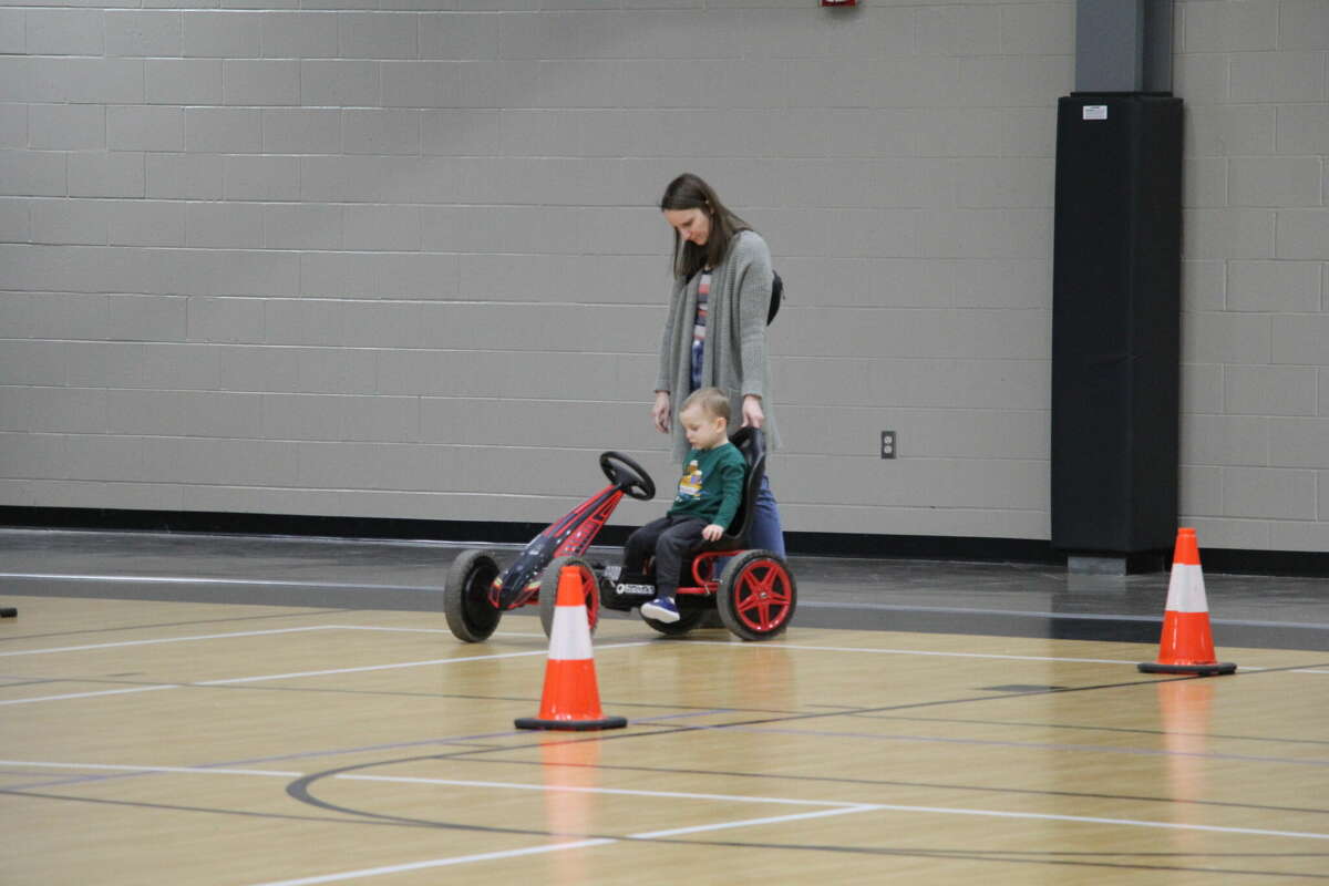
[{"label": "long gray open cardigan worn by the standing woman", "polygon": [[[696,284],[675,280],[670,295],[668,319],[661,336],[657,391],[670,393],[674,409],[674,460],[683,461],[687,438],[676,416],[692,387],[692,325],[696,317]],[[771,250],[756,231],[740,231],[724,260],[711,270],[711,294],[706,317],[706,356],[702,360],[702,387],[716,387],[730,395],[730,433],[743,418],[743,397],[762,397],[766,413],[766,445],[775,449],[780,437],[771,408],[771,371],[766,357],[766,317],[771,306]]]}]

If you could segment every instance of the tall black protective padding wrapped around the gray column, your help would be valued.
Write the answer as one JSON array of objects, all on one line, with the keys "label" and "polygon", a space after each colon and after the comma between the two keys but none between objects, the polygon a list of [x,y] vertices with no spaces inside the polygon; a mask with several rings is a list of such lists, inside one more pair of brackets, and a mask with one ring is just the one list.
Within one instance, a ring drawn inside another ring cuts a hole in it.
[{"label": "tall black protective padding wrapped around the gray column", "polygon": [[[1106,120],[1086,106],[1106,108]],[[1054,232],[1053,547],[1168,550],[1177,517],[1180,98],[1058,101]]]}]

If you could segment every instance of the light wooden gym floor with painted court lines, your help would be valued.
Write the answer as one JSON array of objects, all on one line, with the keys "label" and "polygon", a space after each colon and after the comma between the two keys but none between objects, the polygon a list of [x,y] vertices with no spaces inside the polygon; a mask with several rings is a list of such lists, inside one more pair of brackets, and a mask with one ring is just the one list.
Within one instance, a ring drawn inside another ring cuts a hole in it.
[{"label": "light wooden gym floor with painted court lines", "polygon": [[534,618],[122,584],[0,599],[5,886],[1329,879],[1322,651],[606,619],[629,727],[532,733]]}]

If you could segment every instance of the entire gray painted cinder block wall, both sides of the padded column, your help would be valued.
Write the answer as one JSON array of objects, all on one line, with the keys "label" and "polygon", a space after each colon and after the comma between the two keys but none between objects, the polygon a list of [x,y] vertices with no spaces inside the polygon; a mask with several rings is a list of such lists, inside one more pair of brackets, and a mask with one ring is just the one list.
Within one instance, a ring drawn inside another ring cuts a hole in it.
[{"label": "entire gray painted cinder block wall, both sides of the padded column", "polygon": [[[692,170],[788,284],[787,527],[1047,538],[1071,0],[77,3],[0,8],[0,503],[542,522],[609,448],[667,484]],[[1324,550],[1325,4],[1177,5],[1185,515]]]}]

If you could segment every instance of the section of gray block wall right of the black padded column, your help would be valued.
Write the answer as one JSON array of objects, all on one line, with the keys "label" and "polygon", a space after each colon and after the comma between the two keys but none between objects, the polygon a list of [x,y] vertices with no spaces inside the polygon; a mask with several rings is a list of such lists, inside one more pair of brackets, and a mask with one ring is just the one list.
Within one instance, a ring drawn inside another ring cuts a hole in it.
[{"label": "section of gray block wall right of the black padded column", "polygon": [[1329,550],[1329,3],[1177,3],[1187,101],[1181,510]]}]

